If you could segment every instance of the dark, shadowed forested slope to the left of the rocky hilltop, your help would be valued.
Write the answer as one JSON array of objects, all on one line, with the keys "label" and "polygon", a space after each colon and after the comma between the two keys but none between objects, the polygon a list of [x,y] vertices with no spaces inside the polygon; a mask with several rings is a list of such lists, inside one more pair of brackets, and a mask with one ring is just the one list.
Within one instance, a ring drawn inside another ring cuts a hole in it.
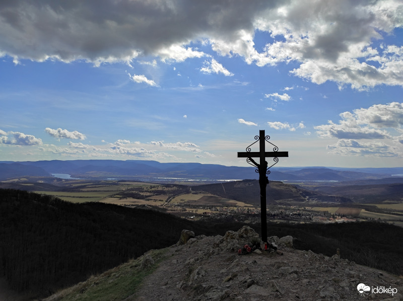
[{"label": "dark, shadowed forested slope to the left of the rocky hilltop", "polygon": [[0,189],[0,270],[9,288],[40,295],[169,246],[183,228],[153,210]]}]

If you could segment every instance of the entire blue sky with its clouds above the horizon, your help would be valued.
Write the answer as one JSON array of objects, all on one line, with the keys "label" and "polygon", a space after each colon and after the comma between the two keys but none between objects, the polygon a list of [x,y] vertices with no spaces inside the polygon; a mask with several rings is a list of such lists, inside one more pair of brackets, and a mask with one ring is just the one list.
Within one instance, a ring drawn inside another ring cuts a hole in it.
[{"label": "entire blue sky with its clouds above the horizon", "polygon": [[403,167],[402,88],[401,0],[0,2],[0,161]]}]

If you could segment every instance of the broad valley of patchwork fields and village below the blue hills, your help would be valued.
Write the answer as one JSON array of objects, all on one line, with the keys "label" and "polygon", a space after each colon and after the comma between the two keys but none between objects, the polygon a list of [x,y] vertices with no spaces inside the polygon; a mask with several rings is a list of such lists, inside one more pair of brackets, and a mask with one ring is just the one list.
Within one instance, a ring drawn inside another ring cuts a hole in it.
[{"label": "broad valley of patchwork fields and village below the blue hills", "polygon": [[[192,220],[260,221],[257,180],[212,184],[187,181],[186,185],[181,181],[168,182],[25,177],[2,181],[0,187],[52,195],[73,203],[148,208]],[[270,181],[266,188],[267,220],[291,223],[380,220],[403,225],[403,184],[322,184]],[[359,202],[354,202],[355,199]]]}]

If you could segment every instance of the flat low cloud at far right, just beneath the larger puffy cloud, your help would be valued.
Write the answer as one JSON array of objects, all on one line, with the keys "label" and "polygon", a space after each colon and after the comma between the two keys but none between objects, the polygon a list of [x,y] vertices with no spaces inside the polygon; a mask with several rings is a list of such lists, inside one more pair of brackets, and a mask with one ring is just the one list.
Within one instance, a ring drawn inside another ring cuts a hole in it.
[{"label": "flat low cloud at far right, just beneath the larger puffy cloud", "polygon": [[329,153],[342,156],[400,157],[398,148],[382,142],[358,142],[354,139],[340,139],[336,144],[327,145]]}]

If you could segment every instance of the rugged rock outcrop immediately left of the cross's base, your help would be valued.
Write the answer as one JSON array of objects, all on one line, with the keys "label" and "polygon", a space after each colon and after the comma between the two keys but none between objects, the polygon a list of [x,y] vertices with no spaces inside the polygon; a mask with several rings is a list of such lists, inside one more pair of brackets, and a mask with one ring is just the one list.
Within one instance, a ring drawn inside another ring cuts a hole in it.
[{"label": "rugged rock outcrop immediately left of the cross's base", "polygon": [[244,225],[237,232],[227,231],[218,242],[218,247],[225,251],[238,251],[244,245],[255,245],[260,243],[259,235],[247,225]]}]

